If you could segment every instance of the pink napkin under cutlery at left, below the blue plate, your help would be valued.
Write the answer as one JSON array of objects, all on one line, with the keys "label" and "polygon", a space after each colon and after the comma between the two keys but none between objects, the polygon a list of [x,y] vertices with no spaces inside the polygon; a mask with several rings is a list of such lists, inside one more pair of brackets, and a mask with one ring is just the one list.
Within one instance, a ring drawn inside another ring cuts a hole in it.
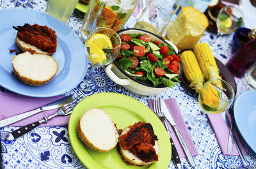
[{"label": "pink napkin under cutlery at left, below the blue plate", "polygon": [[[51,103],[57,99],[63,98],[63,96],[54,96],[50,98],[33,98],[28,96],[22,96],[19,94],[1,92],[0,91],[0,120],[12,117],[13,115],[21,114],[35,108]],[[48,115],[57,112],[58,108],[54,110],[47,110],[32,115],[26,119],[10,124],[9,126],[26,126],[32,122],[40,121]],[[40,124],[40,126],[67,126],[68,116],[57,116],[49,120],[47,123]]]}]

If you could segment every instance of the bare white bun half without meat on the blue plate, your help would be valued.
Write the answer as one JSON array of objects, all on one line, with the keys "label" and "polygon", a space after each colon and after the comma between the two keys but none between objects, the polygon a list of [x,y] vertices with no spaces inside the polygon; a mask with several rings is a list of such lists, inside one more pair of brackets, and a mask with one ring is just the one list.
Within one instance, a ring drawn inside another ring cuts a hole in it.
[{"label": "bare white bun half without meat on the blue plate", "polygon": [[24,52],[12,59],[13,72],[29,85],[44,85],[56,75],[58,62],[45,54]]}]

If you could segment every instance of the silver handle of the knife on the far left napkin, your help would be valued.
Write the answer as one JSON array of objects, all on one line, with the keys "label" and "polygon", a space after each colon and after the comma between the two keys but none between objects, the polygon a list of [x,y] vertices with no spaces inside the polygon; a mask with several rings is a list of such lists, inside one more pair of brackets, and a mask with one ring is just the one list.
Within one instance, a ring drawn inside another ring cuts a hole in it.
[{"label": "silver handle of the knife on the far left napkin", "polygon": [[42,110],[40,108],[36,108],[35,110],[31,110],[26,113],[14,115],[12,117],[9,117],[7,119],[4,119],[0,121],[0,128],[3,128],[4,126],[7,126],[9,124],[13,124],[14,122],[21,121],[22,119],[26,119],[27,117],[37,114],[38,112],[41,112]]}]

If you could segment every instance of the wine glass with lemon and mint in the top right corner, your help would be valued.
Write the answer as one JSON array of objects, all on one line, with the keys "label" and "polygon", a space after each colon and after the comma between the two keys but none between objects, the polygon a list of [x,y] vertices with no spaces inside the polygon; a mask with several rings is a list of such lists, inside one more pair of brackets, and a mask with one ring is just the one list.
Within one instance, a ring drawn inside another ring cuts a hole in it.
[{"label": "wine glass with lemon and mint in the top right corner", "polygon": [[223,34],[230,34],[241,27],[244,20],[243,13],[234,6],[225,6],[217,16],[217,38]]}]

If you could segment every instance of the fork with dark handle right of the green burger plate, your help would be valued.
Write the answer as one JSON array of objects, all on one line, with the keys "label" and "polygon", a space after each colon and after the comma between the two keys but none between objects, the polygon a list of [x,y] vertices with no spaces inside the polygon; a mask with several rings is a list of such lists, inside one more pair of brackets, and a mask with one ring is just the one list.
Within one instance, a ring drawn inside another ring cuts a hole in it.
[{"label": "fork with dark handle right of the green burger plate", "polygon": [[159,99],[153,99],[153,111],[154,113],[157,115],[157,117],[159,117],[159,119],[161,120],[161,122],[164,123],[164,127],[168,133],[168,136],[170,138],[170,142],[171,142],[171,146],[172,146],[172,159],[173,159],[173,164],[175,165],[176,168],[181,168],[181,163],[180,163],[180,158],[179,158],[179,154],[177,152],[177,149],[173,143],[172,140],[172,136],[171,136],[171,132],[168,129],[168,125],[167,123],[164,121],[164,115],[161,113],[160,110],[160,101]]}]

